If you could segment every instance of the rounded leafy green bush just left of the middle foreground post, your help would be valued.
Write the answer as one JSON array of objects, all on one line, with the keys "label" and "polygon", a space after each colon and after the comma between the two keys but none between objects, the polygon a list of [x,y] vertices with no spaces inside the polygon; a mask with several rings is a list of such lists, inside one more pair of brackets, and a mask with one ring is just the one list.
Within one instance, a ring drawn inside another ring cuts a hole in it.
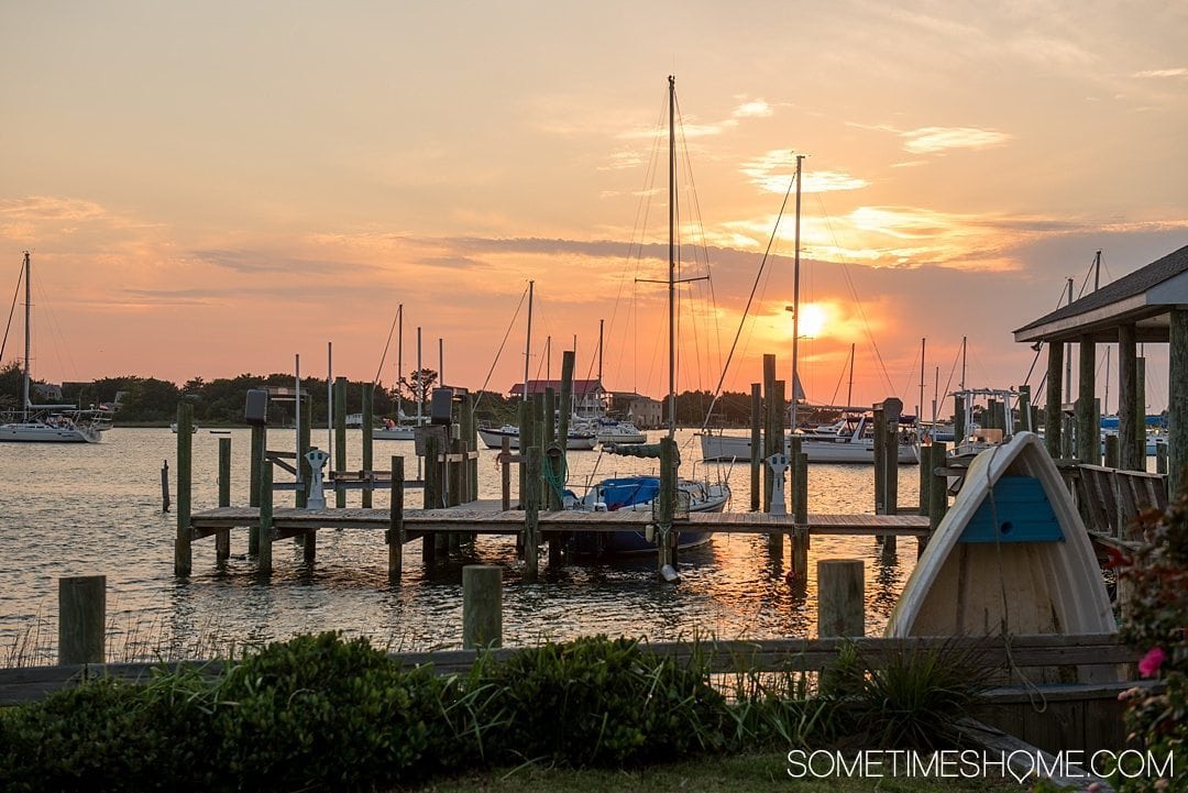
[{"label": "rounded leafy green bush just left of the middle foreground post", "polygon": [[369,789],[424,774],[444,736],[442,684],[366,639],[298,636],[235,665],[214,721],[244,789]]}]

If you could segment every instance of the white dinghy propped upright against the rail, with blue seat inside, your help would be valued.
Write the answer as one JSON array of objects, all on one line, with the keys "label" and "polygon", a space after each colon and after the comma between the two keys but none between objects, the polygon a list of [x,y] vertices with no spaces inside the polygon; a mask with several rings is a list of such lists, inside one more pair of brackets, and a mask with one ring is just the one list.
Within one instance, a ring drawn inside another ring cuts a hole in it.
[{"label": "white dinghy propped upright against the rail, with blue seat inside", "polygon": [[[904,586],[887,636],[1117,629],[1085,525],[1038,436],[980,453]],[[1113,679],[1085,667],[1082,681]]]}]

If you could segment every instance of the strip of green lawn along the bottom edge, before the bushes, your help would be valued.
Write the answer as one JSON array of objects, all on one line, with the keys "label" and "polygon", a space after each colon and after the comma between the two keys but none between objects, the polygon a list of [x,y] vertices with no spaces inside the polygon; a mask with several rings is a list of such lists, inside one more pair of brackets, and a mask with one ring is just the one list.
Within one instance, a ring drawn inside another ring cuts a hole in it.
[{"label": "strip of green lawn along the bottom edge, before the bushes", "polygon": [[1019,791],[1013,780],[985,779],[792,779],[784,753],[699,757],[664,766],[631,770],[573,770],[524,765],[438,779],[419,787],[397,788],[391,793],[942,793],[948,791]]}]

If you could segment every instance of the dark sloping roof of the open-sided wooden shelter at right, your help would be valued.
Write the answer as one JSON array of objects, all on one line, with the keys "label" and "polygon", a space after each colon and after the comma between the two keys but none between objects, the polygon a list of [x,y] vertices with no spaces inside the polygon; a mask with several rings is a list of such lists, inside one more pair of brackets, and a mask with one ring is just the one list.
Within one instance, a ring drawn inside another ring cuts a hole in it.
[{"label": "dark sloping roof of the open-sided wooden shelter at right", "polygon": [[1188,246],[1023,325],[1015,341],[1116,342],[1118,326],[1133,323],[1137,341],[1167,342],[1176,307],[1188,307]]}]

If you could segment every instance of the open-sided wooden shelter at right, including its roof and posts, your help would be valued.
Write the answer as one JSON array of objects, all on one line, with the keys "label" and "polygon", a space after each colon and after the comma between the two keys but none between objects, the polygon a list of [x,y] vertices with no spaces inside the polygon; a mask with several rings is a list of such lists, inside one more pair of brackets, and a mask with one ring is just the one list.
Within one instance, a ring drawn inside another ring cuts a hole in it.
[{"label": "open-sided wooden shelter at right, including its roof and posts", "polygon": [[[1044,438],[1060,456],[1066,399],[1074,404],[1076,457],[1100,461],[1094,405],[1097,344],[1118,344],[1119,467],[1145,470],[1145,361],[1139,344],[1168,344],[1168,493],[1184,482],[1188,464],[1188,246],[1073,300],[1015,331],[1015,341],[1048,347]],[[1064,345],[1078,345],[1075,399],[1061,392]]]}]

